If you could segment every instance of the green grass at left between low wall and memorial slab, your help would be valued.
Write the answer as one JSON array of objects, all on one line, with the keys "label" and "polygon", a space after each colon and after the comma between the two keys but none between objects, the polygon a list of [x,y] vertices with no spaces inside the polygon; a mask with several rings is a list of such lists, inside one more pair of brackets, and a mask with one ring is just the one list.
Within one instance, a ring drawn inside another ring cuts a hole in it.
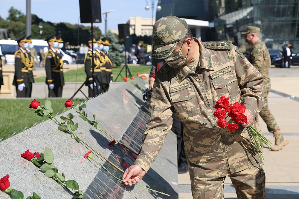
[{"label": "green grass at left between low wall and memorial slab", "polygon": [[[46,99],[38,99],[41,105],[45,103]],[[60,114],[67,110],[64,106],[66,98],[51,98],[53,115]],[[0,103],[0,139],[9,138],[13,132],[18,134],[22,132],[25,127],[30,128],[35,123],[39,124],[47,117],[40,117],[34,113],[34,109],[29,109],[32,99],[1,99]],[[85,102],[86,99],[73,99],[74,105]]]}]

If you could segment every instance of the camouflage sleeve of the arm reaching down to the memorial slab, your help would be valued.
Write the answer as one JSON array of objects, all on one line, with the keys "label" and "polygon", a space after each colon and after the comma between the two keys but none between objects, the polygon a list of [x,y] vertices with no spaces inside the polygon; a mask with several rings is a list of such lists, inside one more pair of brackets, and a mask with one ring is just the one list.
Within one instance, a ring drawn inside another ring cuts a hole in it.
[{"label": "camouflage sleeve of the arm reaching down to the memorial slab", "polygon": [[166,135],[172,127],[172,109],[167,89],[156,78],[149,103],[147,130],[144,132],[143,144],[134,163],[146,172],[155,161]]}]

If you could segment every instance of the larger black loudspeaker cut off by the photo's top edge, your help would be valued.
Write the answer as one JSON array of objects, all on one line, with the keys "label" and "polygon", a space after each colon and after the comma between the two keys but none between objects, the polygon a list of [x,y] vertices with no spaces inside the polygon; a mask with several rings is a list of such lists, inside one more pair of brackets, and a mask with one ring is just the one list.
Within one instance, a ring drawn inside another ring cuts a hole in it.
[{"label": "larger black loudspeaker cut off by the photo's top edge", "polygon": [[101,23],[101,1],[79,0],[81,23]]}]

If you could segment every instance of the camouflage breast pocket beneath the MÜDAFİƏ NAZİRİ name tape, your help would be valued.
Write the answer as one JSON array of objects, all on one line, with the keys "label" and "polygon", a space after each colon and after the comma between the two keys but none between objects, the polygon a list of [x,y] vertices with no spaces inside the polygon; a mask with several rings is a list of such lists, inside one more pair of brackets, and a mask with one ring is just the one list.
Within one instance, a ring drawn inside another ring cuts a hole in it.
[{"label": "camouflage breast pocket beneath the M\u00dcDAF\u0130\u018f NAZ\u0130R\u0130 name tape", "polygon": [[170,97],[177,115],[188,118],[200,113],[193,88],[172,92]]}]

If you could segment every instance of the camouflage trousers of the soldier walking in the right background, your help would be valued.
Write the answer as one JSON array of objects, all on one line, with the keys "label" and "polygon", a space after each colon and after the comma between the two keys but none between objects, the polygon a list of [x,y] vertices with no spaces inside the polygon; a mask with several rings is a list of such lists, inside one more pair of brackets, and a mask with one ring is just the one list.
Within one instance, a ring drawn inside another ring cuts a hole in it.
[{"label": "camouflage trousers of the soldier walking in the right background", "polygon": [[[262,110],[260,111],[260,116],[263,119],[263,121],[267,124],[267,128],[268,131],[271,133],[274,133],[277,130],[280,130],[280,128],[278,127],[274,116],[272,115],[272,113],[269,110],[269,106],[268,106],[268,94],[271,88],[271,84],[264,84],[264,100],[265,100],[265,104],[262,108]],[[258,117],[255,118],[255,120],[258,123]]]}]

